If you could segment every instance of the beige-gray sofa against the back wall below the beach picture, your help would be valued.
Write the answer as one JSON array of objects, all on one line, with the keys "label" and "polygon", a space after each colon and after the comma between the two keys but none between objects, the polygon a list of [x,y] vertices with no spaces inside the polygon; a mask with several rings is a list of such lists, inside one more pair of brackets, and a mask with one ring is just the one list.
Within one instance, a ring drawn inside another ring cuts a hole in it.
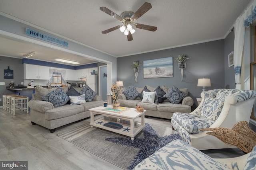
[{"label": "beige-gray sofa against the back wall below the beach picture", "polygon": [[[146,85],[147,89],[150,90],[150,92],[154,92],[156,90],[156,87],[150,87]],[[141,93],[144,88],[137,88],[136,90],[138,93]],[[162,90],[164,90],[165,93],[167,93],[171,87],[162,86]],[[136,108],[136,106],[141,106],[147,111],[145,112],[145,116],[153,116],[153,117],[160,117],[160,118],[166,118],[171,119],[172,114],[175,112],[182,112],[182,113],[190,113],[191,112],[191,106],[194,104],[193,99],[188,96],[188,88],[181,88],[179,89],[181,92],[185,94],[185,98],[183,98],[182,102],[179,104],[172,104],[167,99],[164,99],[164,102],[162,103],[142,103],[142,100],[140,97],[137,97],[135,100],[127,100],[126,96],[124,94],[121,94],[118,98],[118,102],[120,103],[120,106],[122,107],[131,107]]]}]

